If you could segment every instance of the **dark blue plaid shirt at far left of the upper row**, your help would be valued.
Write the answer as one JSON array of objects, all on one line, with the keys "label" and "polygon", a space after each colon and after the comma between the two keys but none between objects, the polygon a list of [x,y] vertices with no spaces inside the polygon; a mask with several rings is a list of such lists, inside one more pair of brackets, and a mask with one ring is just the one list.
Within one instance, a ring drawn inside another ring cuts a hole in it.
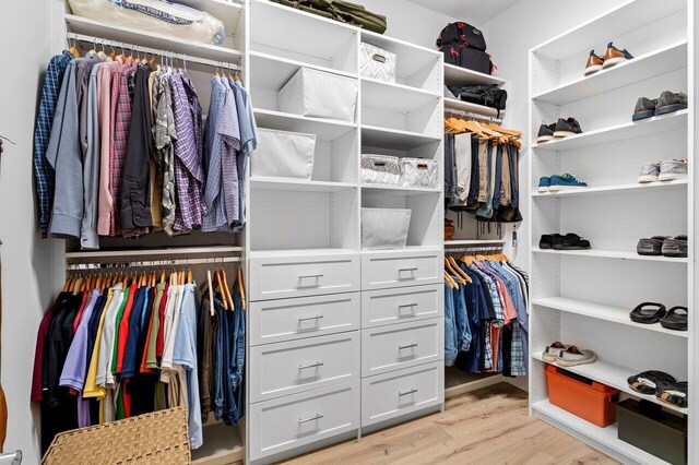
[{"label": "dark blue plaid shirt at far left of the upper row", "polygon": [[42,237],[48,236],[48,225],[51,220],[51,204],[54,203],[54,168],[46,159],[46,150],[51,134],[51,124],[58,103],[58,93],[63,81],[63,73],[68,63],[73,59],[69,51],[57,55],[48,63],[44,78],[44,88],[39,100],[39,110],[34,130],[34,177],[36,179],[36,195],[39,206],[39,228]]}]

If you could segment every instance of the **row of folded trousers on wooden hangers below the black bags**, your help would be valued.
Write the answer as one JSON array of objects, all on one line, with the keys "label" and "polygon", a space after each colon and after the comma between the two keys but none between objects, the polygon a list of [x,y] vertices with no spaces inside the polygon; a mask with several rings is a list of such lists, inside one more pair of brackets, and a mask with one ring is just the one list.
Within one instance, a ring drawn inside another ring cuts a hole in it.
[{"label": "row of folded trousers on wooden hangers below the black bags", "polygon": [[445,202],[483,222],[521,222],[519,151],[522,133],[497,124],[445,120]]}]

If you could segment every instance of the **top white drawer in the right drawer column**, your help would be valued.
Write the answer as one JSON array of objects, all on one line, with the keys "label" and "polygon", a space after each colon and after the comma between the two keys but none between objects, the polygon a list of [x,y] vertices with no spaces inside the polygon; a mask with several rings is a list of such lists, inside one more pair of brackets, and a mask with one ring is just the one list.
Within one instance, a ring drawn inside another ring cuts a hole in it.
[{"label": "top white drawer in the right drawer column", "polygon": [[362,254],[362,290],[439,284],[445,252],[402,250]]}]

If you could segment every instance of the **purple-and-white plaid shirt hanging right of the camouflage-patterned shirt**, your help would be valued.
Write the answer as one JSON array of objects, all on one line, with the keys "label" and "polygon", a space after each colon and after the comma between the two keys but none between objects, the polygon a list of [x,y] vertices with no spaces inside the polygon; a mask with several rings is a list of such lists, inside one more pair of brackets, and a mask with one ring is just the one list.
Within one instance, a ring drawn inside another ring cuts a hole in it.
[{"label": "purple-and-white plaid shirt hanging right of the camouflage-patterned shirt", "polygon": [[191,80],[182,74],[170,79],[175,115],[175,182],[177,210],[174,229],[190,231],[201,226],[204,203],[202,184],[201,105]]}]

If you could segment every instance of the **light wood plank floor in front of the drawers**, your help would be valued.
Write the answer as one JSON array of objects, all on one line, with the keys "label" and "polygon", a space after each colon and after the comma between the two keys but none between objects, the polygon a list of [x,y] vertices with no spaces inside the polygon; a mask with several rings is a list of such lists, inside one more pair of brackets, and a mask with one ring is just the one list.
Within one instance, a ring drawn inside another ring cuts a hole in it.
[{"label": "light wood plank floor in front of the drawers", "polygon": [[506,383],[447,401],[435,414],[286,464],[616,464],[528,415],[526,393]]}]

